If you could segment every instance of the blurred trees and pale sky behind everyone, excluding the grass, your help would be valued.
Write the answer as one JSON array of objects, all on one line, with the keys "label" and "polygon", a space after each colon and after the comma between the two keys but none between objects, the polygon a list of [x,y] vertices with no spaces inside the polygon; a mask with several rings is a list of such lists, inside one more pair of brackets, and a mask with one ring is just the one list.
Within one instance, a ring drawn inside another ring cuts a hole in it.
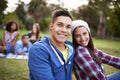
[{"label": "blurred trees and pale sky behind everyone, excluding the grass", "polygon": [[120,0],[0,0],[0,29],[8,20],[16,20],[20,30],[30,30],[37,22],[46,32],[51,12],[57,8],[86,20],[94,37],[120,40]]}]

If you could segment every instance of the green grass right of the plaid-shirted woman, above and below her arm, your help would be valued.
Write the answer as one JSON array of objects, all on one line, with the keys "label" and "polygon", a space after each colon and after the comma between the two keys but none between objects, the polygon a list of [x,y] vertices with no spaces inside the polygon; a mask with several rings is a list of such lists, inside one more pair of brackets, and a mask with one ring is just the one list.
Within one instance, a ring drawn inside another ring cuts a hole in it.
[{"label": "green grass right of the plaid-shirted woman, above and below her arm", "polygon": [[[120,57],[120,41],[112,41],[112,40],[101,40],[101,39],[93,39],[95,47],[102,50],[103,52]],[[120,70],[115,69],[111,66],[104,64],[105,74],[112,74],[114,72],[120,72]]]}]

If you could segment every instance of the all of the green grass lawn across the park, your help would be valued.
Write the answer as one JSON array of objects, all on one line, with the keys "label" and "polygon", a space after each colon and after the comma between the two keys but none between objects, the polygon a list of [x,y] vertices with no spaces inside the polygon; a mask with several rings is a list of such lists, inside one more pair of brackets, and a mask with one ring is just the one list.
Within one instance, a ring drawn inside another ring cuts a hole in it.
[{"label": "all of the green grass lawn across the park", "polygon": [[[3,31],[0,29],[0,38],[2,38]],[[27,33],[26,30],[20,31],[21,35]],[[41,36],[44,37],[48,33],[41,32]],[[94,44],[98,49],[103,50],[107,54],[120,57],[120,41],[101,40],[94,38]],[[28,60],[14,60],[0,58],[0,80],[29,80],[29,70],[27,66]],[[104,65],[106,75],[118,72],[120,70],[111,66]],[[73,80],[75,80],[73,76]]]}]

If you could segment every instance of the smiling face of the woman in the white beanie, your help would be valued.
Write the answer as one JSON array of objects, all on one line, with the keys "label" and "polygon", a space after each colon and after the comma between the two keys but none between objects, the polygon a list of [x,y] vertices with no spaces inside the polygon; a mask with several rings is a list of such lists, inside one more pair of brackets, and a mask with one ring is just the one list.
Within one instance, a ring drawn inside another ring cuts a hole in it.
[{"label": "smiling face of the woman in the white beanie", "polygon": [[89,32],[85,27],[77,27],[74,31],[75,41],[81,46],[87,46],[90,40]]}]

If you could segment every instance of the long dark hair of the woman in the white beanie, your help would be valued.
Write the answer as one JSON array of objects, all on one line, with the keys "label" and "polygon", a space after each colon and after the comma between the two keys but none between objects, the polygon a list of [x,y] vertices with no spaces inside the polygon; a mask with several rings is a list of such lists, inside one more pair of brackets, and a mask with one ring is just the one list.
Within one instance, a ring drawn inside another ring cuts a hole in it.
[{"label": "long dark hair of the woman in the white beanie", "polygon": [[[82,27],[82,26],[79,26],[79,27]],[[74,36],[74,32],[75,32],[75,29],[72,33],[72,42],[73,42],[73,47],[74,49],[76,49],[78,46],[80,46],[79,44],[77,44],[76,40],[75,40],[75,36]],[[95,51],[94,51],[94,44],[93,44],[93,40],[92,40],[92,36],[91,34],[89,33],[89,37],[90,37],[90,40],[89,40],[89,43],[87,45],[87,49],[88,51],[90,52],[90,55],[92,56],[93,60],[98,63],[98,64],[101,64],[102,61],[101,59],[96,55]]]}]

